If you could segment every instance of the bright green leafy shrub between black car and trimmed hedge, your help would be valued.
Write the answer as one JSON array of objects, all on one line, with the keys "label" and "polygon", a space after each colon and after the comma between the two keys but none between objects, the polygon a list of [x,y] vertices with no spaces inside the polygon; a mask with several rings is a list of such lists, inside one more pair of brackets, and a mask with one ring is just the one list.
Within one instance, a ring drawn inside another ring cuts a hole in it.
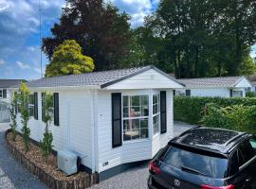
[{"label": "bright green leafy shrub between black car and trimmed hedge", "polygon": [[206,105],[201,123],[210,128],[225,128],[256,133],[256,106],[234,105],[220,107]]}]

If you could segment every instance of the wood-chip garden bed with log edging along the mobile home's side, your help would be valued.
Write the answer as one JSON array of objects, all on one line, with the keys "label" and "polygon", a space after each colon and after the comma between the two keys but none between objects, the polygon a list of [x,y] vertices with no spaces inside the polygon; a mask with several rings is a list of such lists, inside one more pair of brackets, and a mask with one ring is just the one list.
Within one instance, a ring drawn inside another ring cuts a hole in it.
[{"label": "wood-chip garden bed with log edging along the mobile home's side", "polygon": [[33,143],[29,143],[29,150],[24,150],[22,137],[18,134],[16,141],[11,140],[10,130],[6,132],[6,142],[9,151],[14,158],[24,164],[29,172],[38,177],[53,189],[82,189],[92,186],[98,182],[98,174],[88,174],[79,172],[66,177],[64,172],[58,169],[57,160],[54,155],[50,155],[48,162],[42,157],[41,149]]}]

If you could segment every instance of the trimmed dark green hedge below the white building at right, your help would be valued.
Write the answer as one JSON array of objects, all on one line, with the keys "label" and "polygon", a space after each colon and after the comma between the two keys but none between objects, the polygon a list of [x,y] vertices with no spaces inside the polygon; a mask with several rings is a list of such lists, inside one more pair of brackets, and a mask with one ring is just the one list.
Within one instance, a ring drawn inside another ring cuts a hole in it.
[{"label": "trimmed dark green hedge below the white building at right", "polygon": [[200,124],[203,118],[206,104],[214,103],[220,107],[228,107],[233,105],[252,106],[256,105],[254,97],[174,97],[174,120],[183,121],[190,124]]}]

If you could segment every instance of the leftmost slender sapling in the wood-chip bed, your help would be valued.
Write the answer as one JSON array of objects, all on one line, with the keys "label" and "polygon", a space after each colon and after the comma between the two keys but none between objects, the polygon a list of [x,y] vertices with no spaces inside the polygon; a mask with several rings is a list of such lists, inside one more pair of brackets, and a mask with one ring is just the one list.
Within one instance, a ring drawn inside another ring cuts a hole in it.
[{"label": "leftmost slender sapling in the wood-chip bed", "polygon": [[10,129],[11,129],[11,134],[12,134],[12,141],[15,141],[16,140],[16,136],[17,136],[17,131],[16,131],[16,128],[17,128],[17,115],[16,115],[16,112],[15,112],[15,108],[17,106],[17,96],[15,94],[12,94],[12,97],[11,97],[11,105],[10,105]]}]

